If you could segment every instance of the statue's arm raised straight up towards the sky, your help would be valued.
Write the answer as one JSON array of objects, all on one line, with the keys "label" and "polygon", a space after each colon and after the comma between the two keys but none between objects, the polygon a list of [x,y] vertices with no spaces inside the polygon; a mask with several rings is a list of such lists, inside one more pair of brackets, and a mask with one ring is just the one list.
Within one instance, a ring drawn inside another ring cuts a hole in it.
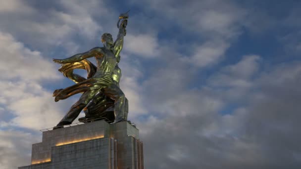
[{"label": "statue's arm raised straight up towards the sky", "polygon": [[[126,35],[126,26],[128,23],[128,18],[129,18],[129,11],[126,13],[120,14],[119,15],[119,20],[117,23],[117,28],[119,28],[119,32],[116,38],[116,41],[114,42],[114,54],[116,57],[120,54],[120,51],[122,50],[123,47],[123,37]],[[121,20],[121,23],[119,25],[119,22]]]}]

